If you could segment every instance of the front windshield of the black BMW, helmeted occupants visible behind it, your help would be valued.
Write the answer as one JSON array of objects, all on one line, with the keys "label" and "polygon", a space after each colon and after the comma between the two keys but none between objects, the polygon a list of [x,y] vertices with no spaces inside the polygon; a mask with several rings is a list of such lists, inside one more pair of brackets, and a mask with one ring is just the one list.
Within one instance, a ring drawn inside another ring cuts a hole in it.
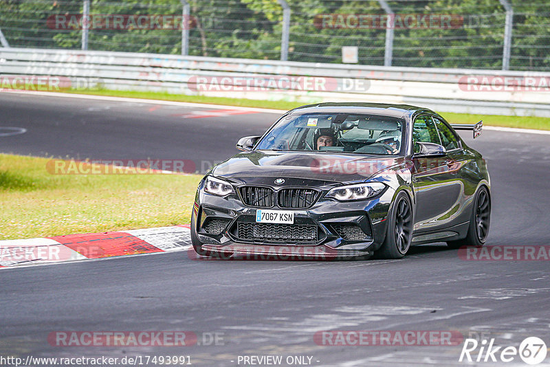
[{"label": "front windshield of the black BMW, helmeted occupants visible behind it", "polygon": [[256,145],[259,150],[395,155],[404,120],[380,115],[308,113],[280,120]]}]

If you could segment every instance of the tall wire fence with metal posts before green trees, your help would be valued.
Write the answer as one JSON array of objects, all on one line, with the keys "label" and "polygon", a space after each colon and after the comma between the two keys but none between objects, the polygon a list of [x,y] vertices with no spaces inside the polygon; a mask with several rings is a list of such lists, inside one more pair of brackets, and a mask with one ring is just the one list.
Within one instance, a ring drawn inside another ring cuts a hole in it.
[{"label": "tall wire fence with metal posts before green trees", "polygon": [[[122,26],[113,25],[115,16]],[[0,42],[316,63],[342,63],[351,52],[359,65],[550,71],[550,6],[543,0],[5,0]]]}]

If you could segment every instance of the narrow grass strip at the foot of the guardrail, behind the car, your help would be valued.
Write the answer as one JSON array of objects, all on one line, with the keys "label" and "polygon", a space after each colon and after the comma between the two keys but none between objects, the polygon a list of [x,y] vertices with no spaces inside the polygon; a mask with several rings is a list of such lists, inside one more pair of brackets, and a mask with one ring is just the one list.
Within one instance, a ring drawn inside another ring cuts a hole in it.
[{"label": "narrow grass strip at the foot of the guardrail, behind the car", "polygon": [[[69,92],[73,93],[73,92]],[[184,94],[170,94],[162,92],[144,91],[78,91],[74,93],[91,94],[96,96],[112,96],[127,98],[144,98],[150,100],[170,100],[177,102],[194,102],[208,104],[222,104],[227,106],[256,107],[263,109],[289,110],[300,107],[304,102],[269,101],[269,100],[245,100],[241,98],[222,98],[206,96],[186,96]],[[530,116],[501,116],[501,115],[477,115],[469,113],[441,112],[441,115],[451,124],[475,124],[483,120],[487,126],[515,127],[520,129],[550,130],[550,118],[538,118]]]}]

